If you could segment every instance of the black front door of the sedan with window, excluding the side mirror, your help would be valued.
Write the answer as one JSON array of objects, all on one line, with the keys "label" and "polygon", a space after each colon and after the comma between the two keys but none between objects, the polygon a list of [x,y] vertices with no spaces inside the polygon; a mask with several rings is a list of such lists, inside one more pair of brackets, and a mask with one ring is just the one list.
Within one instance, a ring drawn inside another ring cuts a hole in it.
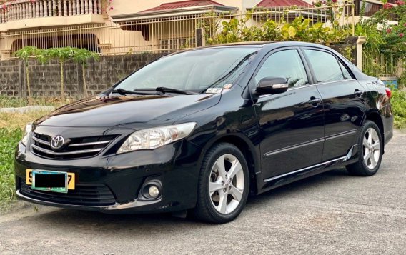
[{"label": "black front door of the sedan with window, excluding the side mirror", "polygon": [[322,101],[317,87],[309,83],[301,53],[295,48],[273,52],[252,82],[264,77],[284,77],[289,89],[254,99],[262,138],[262,176],[269,179],[319,164],[324,141]]}]

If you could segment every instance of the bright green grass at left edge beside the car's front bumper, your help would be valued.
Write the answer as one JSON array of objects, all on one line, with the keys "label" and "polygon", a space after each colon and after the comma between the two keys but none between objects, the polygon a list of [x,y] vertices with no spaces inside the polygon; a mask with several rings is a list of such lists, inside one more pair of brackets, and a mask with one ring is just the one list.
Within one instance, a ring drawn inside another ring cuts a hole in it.
[{"label": "bright green grass at left edge beside the car's front bumper", "polygon": [[21,139],[21,129],[0,129],[0,204],[14,197],[14,150]]}]

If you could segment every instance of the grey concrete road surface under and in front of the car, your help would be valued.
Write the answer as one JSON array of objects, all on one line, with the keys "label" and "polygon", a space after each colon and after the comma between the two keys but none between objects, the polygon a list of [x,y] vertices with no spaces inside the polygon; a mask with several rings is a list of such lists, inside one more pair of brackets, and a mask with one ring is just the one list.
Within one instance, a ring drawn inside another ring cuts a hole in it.
[{"label": "grey concrete road surface under and in front of the car", "polygon": [[406,254],[405,166],[397,131],[375,176],[314,176],[250,199],[218,226],[19,203],[0,216],[0,254]]}]

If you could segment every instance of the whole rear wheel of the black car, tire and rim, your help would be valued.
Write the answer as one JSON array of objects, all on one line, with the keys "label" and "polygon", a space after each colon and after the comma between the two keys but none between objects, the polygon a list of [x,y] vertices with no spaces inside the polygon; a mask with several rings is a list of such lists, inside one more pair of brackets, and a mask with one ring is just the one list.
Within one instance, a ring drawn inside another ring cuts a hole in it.
[{"label": "whole rear wheel of the black car, tire and rim", "polygon": [[358,161],[347,166],[347,171],[357,176],[372,176],[380,168],[382,161],[382,135],[377,124],[365,121],[357,139]]}]

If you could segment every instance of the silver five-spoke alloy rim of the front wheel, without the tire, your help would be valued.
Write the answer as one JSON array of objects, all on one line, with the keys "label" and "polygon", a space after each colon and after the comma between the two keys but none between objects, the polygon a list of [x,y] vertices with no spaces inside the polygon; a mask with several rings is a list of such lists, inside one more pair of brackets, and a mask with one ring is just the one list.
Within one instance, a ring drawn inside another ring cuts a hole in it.
[{"label": "silver five-spoke alloy rim of the front wheel, without the tire", "polygon": [[224,154],[214,162],[209,176],[209,196],[221,214],[230,214],[242,201],[244,172],[237,157]]}]

